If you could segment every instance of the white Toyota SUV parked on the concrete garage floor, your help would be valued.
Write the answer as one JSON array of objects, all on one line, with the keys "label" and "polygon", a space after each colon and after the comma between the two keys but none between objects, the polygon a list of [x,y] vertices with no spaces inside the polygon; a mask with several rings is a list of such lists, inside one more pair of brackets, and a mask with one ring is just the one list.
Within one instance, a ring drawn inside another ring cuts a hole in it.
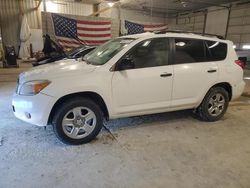
[{"label": "white Toyota SUV parked on the concrete garage floor", "polygon": [[233,44],[196,34],[144,33],[111,40],[82,61],[22,73],[13,96],[19,119],[52,124],[68,144],[94,139],[103,120],[195,109],[220,119],[244,89]]}]

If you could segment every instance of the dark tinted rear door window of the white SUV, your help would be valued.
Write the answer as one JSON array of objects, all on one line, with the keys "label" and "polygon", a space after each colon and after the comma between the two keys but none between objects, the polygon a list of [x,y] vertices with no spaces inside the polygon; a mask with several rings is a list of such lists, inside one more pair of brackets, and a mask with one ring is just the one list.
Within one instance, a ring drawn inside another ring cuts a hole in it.
[{"label": "dark tinted rear door window of the white SUV", "polygon": [[175,39],[175,64],[204,62],[205,57],[203,40]]}]

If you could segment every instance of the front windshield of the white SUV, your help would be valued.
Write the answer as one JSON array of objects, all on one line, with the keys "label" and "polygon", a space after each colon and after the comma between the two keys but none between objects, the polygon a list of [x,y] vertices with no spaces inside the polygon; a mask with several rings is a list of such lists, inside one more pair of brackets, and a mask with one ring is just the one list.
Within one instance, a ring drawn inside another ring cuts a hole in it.
[{"label": "front windshield of the white SUV", "polygon": [[118,38],[97,47],[84,57],[84,60],[92,65],[103,65],[112,57],[120,52],[124,47],[130,44],[134,39]]}]

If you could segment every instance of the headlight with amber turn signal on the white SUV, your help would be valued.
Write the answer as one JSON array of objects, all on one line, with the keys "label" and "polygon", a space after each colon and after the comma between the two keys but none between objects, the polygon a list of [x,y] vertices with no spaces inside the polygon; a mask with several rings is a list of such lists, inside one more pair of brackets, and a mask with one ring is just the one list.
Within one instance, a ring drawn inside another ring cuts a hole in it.
[{"label": "headlight with amber turn signal on the white SUV", "polygon": [[48,80],[25,82],[19,87],[19,95],[36,95],[50,84]]}]

